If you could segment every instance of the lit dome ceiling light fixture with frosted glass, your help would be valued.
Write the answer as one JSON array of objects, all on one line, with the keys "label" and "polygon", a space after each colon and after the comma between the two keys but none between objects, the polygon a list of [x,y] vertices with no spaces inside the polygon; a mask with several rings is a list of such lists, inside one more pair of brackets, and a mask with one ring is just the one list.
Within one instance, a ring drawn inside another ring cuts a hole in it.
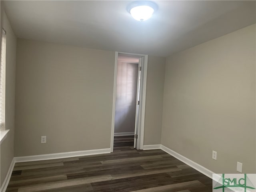
[{"label": "lit dome ceiling light fixture with frosted glass", "polygon": [[157,10],[158,6],[152,1],[136,1],[128,6],[128,12],[137,21],[146,21]]}]

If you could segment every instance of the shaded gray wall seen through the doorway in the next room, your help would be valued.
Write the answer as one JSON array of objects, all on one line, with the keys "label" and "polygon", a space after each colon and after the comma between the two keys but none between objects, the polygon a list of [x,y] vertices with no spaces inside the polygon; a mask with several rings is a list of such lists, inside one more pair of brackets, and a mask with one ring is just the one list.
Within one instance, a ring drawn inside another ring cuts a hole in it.
[{"label": "shaded gray wall seen through the doorway in the next room", "polygon": [[115,133],[134,132],[138,63],[118,62]]}]

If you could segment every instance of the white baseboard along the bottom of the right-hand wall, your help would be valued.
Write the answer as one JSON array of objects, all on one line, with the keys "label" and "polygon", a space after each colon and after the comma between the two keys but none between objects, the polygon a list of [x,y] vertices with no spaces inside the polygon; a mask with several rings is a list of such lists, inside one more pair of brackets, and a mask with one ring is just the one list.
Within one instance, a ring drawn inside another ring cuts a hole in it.
[{"label": "white baseboard along the bottom of the right-hand wall", "polygon": [[171,156],[174,156],[178,160],[184,162],[185,164],[189,165],[190,167],[194,168],[195,170],[199,171],[200,173],[202,173],[212,179],[212,174],[214,174],[214,172],[212,172],[211,170],[208,170],[207,168],[203,167],[202,165],[182,156],[181,154],[167,148],[164,145],[161,145],[161,149],[163,151],[165,151],[166,153],[170,154]]}]

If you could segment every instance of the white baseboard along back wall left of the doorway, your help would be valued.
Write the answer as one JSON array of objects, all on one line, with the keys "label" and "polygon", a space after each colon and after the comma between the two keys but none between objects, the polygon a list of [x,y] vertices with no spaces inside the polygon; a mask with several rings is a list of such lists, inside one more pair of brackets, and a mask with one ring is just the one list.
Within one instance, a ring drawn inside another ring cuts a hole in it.
[{"label": "white baseboard along back wall left of the doorway", "polygon": [[40,160],[50,160],[50,159],[60,159],[60,158],[105,154],[105,153],[110,153],[110,148],[22,156],[22,157],[14,157],[14,159],[15,159],[15,162],[29,162],[29,161],[40,161]]}]

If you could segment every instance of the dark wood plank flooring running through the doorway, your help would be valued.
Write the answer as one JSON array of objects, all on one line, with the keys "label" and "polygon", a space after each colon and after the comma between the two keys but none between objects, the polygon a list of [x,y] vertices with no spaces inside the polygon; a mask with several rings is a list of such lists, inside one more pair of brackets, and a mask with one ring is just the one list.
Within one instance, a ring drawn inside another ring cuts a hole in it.
[{"label": "dark wood plank flooring running through the doorway", "polygon": [[212,180],[162,150],[136,150],[133,136],[114,152],[16,163],[6,192],[212,192]]}]

